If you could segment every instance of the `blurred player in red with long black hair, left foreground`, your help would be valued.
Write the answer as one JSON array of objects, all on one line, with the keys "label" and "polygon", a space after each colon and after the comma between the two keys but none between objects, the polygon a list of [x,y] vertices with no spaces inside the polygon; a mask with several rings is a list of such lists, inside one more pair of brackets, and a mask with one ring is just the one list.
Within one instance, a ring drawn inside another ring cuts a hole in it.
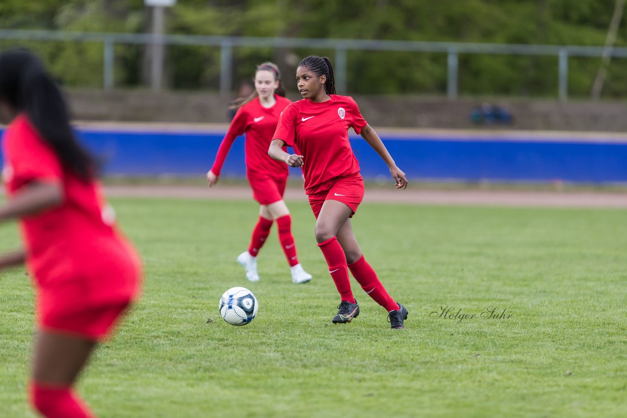
[{"label": "blurred player in red with long black hair, left foreground", "polygon": [[0,54],[3,180],[0,221],[19,218],[24,249],[0,269],[26,262],[36,290],[37,334],[29,399],[46,417],[92,417],[73,392],[98,341],[137,298],[140,264],[113,226],[78,145],[61,92],[26,50]]}]

